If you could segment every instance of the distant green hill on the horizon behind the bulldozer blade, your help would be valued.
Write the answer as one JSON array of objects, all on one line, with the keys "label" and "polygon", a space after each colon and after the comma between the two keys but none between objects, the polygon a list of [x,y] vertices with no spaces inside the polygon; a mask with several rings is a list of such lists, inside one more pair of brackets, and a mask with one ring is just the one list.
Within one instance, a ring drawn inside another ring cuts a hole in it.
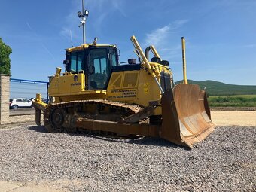
[{"label": "distant green hill on the horizon behind the bulldozer blade", "polygon": [[[179,84],[181,81],[176,82]],[[256,95],[256,86],[254,85],[235,85],[224,84],[218,81],[193,81],[188,80],[189,84],[198,84],[201,89],[206,87],[209,96],[234,96],[234,95]]]}]

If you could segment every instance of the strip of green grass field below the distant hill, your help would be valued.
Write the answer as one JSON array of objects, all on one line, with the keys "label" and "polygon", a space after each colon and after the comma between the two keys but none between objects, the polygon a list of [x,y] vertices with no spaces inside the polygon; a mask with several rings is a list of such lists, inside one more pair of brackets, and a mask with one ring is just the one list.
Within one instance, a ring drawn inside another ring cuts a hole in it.
[{"label": "strip of green grass field below the distant hill", "polygon": [[209,96],[211,107],[256,107],[256,95]]}]

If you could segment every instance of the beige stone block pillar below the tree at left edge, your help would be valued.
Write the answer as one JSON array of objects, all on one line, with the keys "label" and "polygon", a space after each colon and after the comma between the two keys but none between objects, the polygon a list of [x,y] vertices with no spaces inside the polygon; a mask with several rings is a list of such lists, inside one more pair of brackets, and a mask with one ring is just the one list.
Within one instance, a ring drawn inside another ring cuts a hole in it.
[{"label": "beige stone block pillar below the tree at left edge", "polygon": [[10,77],[0,74],[0,124],[9,122]]}]

